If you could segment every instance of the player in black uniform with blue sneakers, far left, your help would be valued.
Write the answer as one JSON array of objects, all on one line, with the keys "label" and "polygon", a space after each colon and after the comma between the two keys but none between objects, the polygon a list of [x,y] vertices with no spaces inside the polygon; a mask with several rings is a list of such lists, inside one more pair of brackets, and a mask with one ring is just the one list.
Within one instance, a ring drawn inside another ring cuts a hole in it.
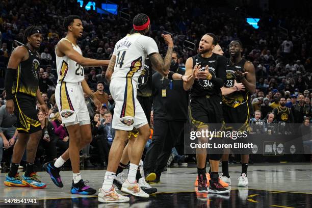
[{"label": "player in black uniform with blue sneakers, far left", "polygon": [[[39,90],[39,61],[37,49],[42,41],[42,33],[37,27],[28,27],[24,32],[27,43],[16,47],[10,57],[5,76],[7,92],[6,108],[10,114],[17,117],[16,128],[18,140],[13,149],[12,165],[4,184],[15,187],[45,188],[37,178],[34,161],[41,138],[41,124],[36,112],[36,98],[45,116],[48,108]],[[17,173],[22,155],[27,149],[27,170],[20,177]]]}]

